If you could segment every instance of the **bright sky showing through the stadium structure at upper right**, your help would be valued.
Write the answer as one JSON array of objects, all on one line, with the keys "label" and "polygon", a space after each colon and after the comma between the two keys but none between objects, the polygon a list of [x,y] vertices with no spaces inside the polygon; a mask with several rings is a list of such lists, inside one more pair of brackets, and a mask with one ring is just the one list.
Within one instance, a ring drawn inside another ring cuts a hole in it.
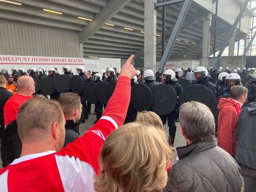
[{"label": "bright sky showing through the stadium structure at upper right", "polygon": [[[256,1],[252,2],[252,8],[254,8],[256,6]],[[256,13],[256,12],[255,12]],[[256,26],[256,19],[254,20],[254,25]],[[253,30],[253,33],[255,32],[255,30]],[[250,39],[249,39],[250,40]],[[238,42],[236,42],[235,44],[235,56],[237,55],[237,49],[238,49]],[[239,45],[239,55],[243,54],[243,49],[244,49],[244,40],[240,40],[240,45]],[[250,54],[250,50],[248,51]],[[218,54],[218,52],[216,53]],[[253,41],[252,43],[252,56],[256,55],[256,39]],[[225,49],[225,51],[223,52],[222,56],[228,56],[228,47]]]}]

